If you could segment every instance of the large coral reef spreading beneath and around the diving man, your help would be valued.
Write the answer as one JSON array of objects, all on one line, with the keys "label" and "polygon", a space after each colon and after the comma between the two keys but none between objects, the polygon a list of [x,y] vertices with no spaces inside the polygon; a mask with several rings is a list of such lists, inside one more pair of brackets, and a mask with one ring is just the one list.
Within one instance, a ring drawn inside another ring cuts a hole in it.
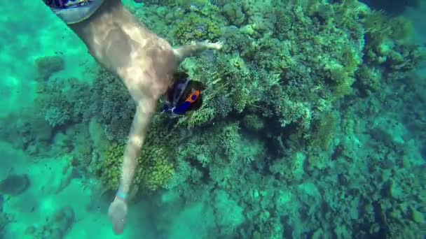
[{"label": "large coral reef spreading beneath and around the diving man", "polygon": [[[181,64],[206,86],[202,107],[155,115],[133,194],[205,203],[178,218],[211,212],[203,226],[218,238],[422,238],[426,85],[412,72],[425,50],[408,41],[408,20],[351,0],[132,11],[174,45],[224,42]],[[92,85],[49,79],[39,92],[31,119],[2,119],[18,129],[15,146],[41,154],[53,141],[51,153],[117,189],[135,114],[122,82],[99,68]]]}]

